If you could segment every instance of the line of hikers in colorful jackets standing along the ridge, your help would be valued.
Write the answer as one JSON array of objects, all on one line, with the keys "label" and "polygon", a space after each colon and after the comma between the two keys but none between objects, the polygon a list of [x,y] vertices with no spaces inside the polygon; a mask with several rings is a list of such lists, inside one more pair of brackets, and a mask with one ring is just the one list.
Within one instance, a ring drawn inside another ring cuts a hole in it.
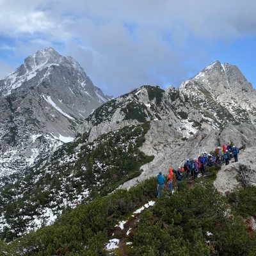
[{"label": "line of hikers in colorful jackets standing along the ridge", "polygon": [[164,189],[164,185],[166,185],[166,190],[170,193],[173,192],[172,182],[175,175],[175,180],[178,182],[182,181],[182,177],[186,177],[187,179],[196,179],[198,177],[198,173],[201,172],[202,175],[205,175],[205,166],[213,166],[216,164],[229,164],[231,157],[234,157],[235,162],[238,161],[237,154],[239,153],[239,149],[235,145],[227,145],[223,144],[217,147],[214,152],[211,154],[200,154],[198,158],[195,159],[187,159],[186,163],[182,166],[178,167],[177,170],[174,170],[172,167],[168,169],[167,182],[165,184],[165,177],[162,172],[159,172],[157,175],[157,198],[161,197],[161,192]]}]

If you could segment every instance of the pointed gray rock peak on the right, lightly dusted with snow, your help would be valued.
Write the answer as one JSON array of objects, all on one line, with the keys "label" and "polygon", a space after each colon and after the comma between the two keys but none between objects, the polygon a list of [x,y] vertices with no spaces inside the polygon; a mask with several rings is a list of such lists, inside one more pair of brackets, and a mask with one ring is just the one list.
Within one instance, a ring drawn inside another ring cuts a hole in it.
[{"label": "pointed gray rock peak on the right, lightly dusted with snow", "polygon": [[256,93],[240,70],[215,61],[180,85],[205,122],[221,128],[228,122],[255,123]]}]

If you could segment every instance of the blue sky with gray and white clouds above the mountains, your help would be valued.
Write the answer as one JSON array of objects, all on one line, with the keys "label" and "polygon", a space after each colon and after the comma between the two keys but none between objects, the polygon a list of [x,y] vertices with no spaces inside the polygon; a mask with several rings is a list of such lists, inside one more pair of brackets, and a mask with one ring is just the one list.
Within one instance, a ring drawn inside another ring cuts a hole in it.
[{"label": "blue sky with gray and white clouds above the mountains", "polygon": [[0,77],[44,47],[108,95],[179,87],[215,60],[256,86],[255,0],[0,0]]}]

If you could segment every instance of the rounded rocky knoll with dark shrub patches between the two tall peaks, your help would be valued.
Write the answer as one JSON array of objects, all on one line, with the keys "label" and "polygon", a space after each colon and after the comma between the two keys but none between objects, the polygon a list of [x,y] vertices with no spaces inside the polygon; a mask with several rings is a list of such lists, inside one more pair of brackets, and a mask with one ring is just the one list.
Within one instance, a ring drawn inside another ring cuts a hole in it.
[{"label": "rounded rocky knoll with dark shrub patches between the two tall peaks", "polygon": [[142,86],[101,106],[86,118],[80,132],[90,132],[92,141],[106,132],[148,121],[161,123],[164,131],[176,130],[183,137],[195,134],[202,127],[201,120],[202,115],[196,109],[191,111],[191,102],[179,90]]}]

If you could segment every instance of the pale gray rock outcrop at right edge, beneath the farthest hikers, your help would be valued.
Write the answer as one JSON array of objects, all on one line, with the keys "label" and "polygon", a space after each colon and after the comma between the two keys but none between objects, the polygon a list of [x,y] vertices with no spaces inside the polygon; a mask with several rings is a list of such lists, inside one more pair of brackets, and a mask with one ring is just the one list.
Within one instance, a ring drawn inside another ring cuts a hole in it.
[{"label": "pale gray rock outcrop at right edge, beneath the farthest hikers", "polygon": [[218,191],[225,193],[244,185],[256,186],[255,157],[256,147],[251,147],[238,154],[237,163],[223,166],[214,181]]}]

